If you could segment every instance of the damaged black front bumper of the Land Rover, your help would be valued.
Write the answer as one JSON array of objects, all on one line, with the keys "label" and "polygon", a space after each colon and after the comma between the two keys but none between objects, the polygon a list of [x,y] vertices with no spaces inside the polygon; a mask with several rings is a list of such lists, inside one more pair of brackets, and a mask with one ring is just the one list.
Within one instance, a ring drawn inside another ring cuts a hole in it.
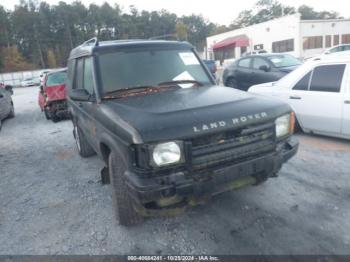
[{"label": "damaged black front bumper of the Land Rover", "polygon": [[213,195],[277,176],[282,164],[297,153],[298,146],[297,139],[290,137],[278,143],[272,153],[208,169],[200,175],[176,172],[148,178],[126,172],[125,177],[135,207],[142,215],[172,215]]}]

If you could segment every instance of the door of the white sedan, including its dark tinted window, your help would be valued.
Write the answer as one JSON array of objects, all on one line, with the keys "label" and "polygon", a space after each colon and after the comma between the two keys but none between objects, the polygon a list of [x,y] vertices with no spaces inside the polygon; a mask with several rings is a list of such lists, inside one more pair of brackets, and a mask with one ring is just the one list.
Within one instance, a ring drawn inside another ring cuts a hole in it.
[{"label": "door of the white sedan, including its dark tinted window", "polygon": [[[317,66],[309,75],[308,90],[294,87],[289,100],[303,128],[321,133],[341,133],[344,71],[345,64]],[[305,77],[304,81],[307,81]]]}]

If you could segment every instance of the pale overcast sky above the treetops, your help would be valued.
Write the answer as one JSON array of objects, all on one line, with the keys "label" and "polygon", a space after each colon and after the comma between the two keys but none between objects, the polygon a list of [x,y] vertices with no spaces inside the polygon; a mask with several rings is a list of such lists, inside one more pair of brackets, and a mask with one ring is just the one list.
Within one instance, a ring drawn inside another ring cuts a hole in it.
[{"label": "pale overcast sky above the treetops", "polygon": [[[40,2],[40,0],[37,0]],[[49,4],[57,4],[59,0],[45,0]],[[108,2],[111,5],[118,3],[124,11],[129,10],[130,5],[134,5],[139,10],[157,11],[167,9],[179,16],[201,14],[209,21],[222,25],[229,25],[239,14],[240,11],[251,9],[257,0],[80,0],[85,5],[91,3],[102,4]],[[67,3],[73,0],[65,1]],[[280,0],[285,5],[298,7],[306,4],[313,7],[316,11],[336,11],[340,15],[350,18],[349,0]],[[0,5],[7,9],[13,9],[19,0],[0,0]]]}]

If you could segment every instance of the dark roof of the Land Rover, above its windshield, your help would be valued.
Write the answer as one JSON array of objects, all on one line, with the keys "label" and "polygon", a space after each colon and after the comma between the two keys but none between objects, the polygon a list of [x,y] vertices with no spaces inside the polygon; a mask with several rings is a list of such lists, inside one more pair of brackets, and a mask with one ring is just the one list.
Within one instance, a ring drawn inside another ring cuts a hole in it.
[{"label": "dark roof of the Land Rover, above its windshield", "polygon": [[127,39],[99,42],[96,38],[93,38],[74,48],[70,52],[69,59],[92,55],[97,50],[124,49],[131,47],[177,47],[179,49],[193,48],[193,46],[188,42],[180,41]]}]

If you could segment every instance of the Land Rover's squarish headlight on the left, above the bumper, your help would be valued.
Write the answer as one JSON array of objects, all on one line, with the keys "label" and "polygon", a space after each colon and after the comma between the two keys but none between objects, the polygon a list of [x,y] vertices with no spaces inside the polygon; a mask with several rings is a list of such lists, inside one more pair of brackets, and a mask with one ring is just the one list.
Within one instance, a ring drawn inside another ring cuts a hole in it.
[{"label": "Land Rover's squarish headlight on the left, above the bumper", "polygon": [[179,142],[167,142],[156,145],[153,148],[152,162],[156,166],[165,166],[182,161],[182,144]]}]

